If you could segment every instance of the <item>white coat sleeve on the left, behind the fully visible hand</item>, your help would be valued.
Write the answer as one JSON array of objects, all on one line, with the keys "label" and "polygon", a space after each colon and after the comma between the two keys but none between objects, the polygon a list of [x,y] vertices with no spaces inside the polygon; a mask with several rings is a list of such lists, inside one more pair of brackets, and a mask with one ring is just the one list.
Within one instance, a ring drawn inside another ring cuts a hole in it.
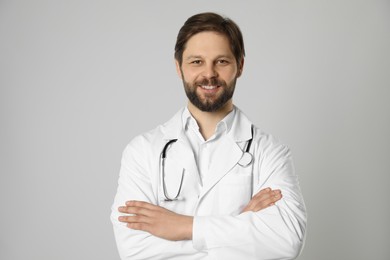
[{"label": "white coat sleeve on the left, behind the fully visible hand", "polygon": [[[145,147],[148,142],[142,138],[133,140],[124,150],[121,161],[117,194],[111,209],[111,222],[122,260],[130,259],[199,259],[201,255],[191,241],[168,241],[144,231],[132,230],[118,221],[123,215],[118,207],[128,200],[146,201],[156,204]],[[158,163],[158,161],[157,161]],[[189,256],[189,257],[188,257]]]}]

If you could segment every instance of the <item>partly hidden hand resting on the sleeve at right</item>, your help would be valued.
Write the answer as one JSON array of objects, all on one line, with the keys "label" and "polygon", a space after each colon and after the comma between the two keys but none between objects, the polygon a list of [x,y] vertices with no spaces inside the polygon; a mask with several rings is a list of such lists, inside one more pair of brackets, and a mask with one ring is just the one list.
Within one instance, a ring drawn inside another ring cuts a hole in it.
[{"label": "partly hidden hand resting on the sleeve at right", "polygon": [[282,192],[280,190],[272,190],[271,188],[265,188],[255,194],[249,201],[248,205],[242,210],[241,213],[247,211],[257,212],[259,210],[268,208],[275,205],[275,202],[282,198]]}]

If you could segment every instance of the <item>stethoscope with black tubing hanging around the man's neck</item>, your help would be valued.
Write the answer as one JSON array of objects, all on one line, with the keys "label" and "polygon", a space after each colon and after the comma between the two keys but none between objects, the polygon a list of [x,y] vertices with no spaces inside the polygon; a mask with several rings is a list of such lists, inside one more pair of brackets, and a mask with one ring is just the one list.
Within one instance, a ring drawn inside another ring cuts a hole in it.
[{"label": "stethoscope with black tubing hanging around the man's neck", "polygon": [[[253,161],[253,155],[249,152],[250,148],[251,148],[251,145],[252,145],[252,140],[253,140],[253,126],[251,127],[251,139],[249,139],[247,142],[246,142],[246,148],[245,148],[245,152],[243,152],[242,156],[241,156],[241,159],[240,161],[238,162],[238,165],[240,165],[241,167],[248,167],[252,161]],[[181,192],[181,188],[183,186],[183,180],[184,180],[184,169],[181,173],[181,180],[180,180],[180,185],[179,185],[179,190],[177,191],[177,194],[175,197],[170,197],[168,195],[168,192],[167,192],[167,187],[166,187],[166,184],[165,184],[165,159],[167,158],[167,150],[168,150],[168,147],[173,144],[174,142],[176,142],[177,139],[171,139],[169,140],[162,152],[161,152],[161,157],[160,157],[160,161],[161,161],[161,178],[162,178],[162,187],[163,187],[163,193],[164,193],[164,201],[175,201],[175,200],[179,200],[179,195],[180,195],[180,192]]]}]

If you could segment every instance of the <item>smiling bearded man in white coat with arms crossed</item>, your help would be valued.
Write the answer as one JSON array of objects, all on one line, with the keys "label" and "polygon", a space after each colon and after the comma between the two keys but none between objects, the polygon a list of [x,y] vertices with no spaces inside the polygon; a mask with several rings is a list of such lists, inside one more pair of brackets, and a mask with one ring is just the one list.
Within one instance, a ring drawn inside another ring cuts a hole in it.
[{"label": "smiling bearded man in white coat with arms crossed", "polygon": [[176,68],[188,105],[126,147],[111,220],[122,259],[293,259],[306,212],[289,149],[233,105],[238,26],[190,17]]}]

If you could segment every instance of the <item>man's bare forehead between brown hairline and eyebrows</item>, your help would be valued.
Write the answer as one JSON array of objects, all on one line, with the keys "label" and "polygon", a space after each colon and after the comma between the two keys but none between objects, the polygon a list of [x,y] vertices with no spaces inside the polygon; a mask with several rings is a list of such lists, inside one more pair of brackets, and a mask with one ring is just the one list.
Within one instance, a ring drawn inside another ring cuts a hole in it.
[{"label": "man's bare forehead between brown hairline and eyebrows", "polygon": [[188,56],[233,56],[228,38],[217,32],[200,32],[188,39],[183,52]]}]

